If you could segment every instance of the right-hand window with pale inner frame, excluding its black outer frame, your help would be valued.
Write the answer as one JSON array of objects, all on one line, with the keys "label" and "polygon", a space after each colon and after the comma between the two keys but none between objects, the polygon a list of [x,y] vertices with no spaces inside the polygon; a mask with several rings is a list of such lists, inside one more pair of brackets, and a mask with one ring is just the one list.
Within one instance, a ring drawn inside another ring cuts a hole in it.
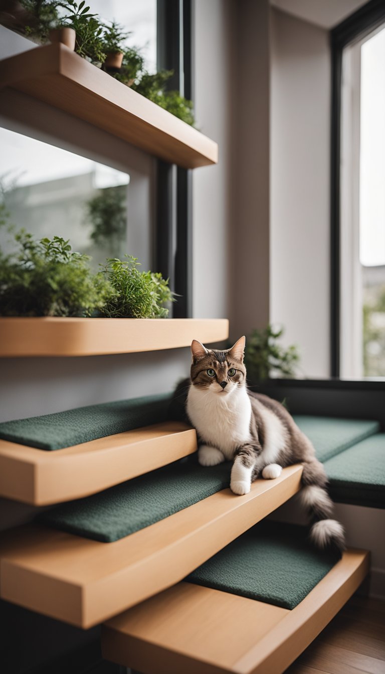
[{"label": "right-hand window with pale inner frame, excluding its black outer frame", "polygon": [[345,47],[340,376],[385,377],[385,27]]}]

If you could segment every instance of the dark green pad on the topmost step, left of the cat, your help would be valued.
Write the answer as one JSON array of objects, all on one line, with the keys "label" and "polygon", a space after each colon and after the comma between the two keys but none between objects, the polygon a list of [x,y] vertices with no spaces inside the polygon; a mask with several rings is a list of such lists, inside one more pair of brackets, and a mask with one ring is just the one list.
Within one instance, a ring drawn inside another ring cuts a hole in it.
[{"label": "dark green pad on the topmost step, left of the cat", "polygon": [[167,419],[171,394],[105,402],[43,417],[0,423],[0,438],[40,450],[61,450]]}]

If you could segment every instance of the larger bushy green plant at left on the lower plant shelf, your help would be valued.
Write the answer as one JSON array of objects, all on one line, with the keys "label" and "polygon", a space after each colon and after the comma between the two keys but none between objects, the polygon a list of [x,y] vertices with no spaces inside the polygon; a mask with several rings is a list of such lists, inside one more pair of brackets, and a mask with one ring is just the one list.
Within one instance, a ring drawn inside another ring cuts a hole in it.
[{"label": "larger bushy green plant at left on the lower plant shelf", "polygon": [[115,295],[109,280],[92,274],[88,256],[61,237],[36,241],[20,231],[16,253],[0,251],[0,315],[90,316]]}]

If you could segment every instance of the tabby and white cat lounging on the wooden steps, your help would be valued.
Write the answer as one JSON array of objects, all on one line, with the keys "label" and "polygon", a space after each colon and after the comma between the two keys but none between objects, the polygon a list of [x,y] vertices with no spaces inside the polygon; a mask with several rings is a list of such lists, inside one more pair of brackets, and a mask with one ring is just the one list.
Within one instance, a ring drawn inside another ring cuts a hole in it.
[{"label": "tabby and white cat lounging on the wooden steps", "polygon": [[333,504],[324,467],[285,407],[247,390],[244,348],[244,337],[225,351],[208,350],[197,340],[191,344],[186,410],[198,433],[198,460],[202,466],[233,460],[230,488],[239,495],[260,474],[274,479],[283,467],[301,462],[300,498],[312,518],[312,541],[343,550],[343,527],[329,519]]}]

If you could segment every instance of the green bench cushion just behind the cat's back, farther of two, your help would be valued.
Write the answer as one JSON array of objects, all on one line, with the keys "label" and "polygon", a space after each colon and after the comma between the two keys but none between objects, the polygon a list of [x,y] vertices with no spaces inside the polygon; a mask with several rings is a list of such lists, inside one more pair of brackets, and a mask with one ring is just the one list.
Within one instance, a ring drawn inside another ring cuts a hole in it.
[{"label": "green bench cushion just behind the cat's back, farther of two", "polygon": [[355,445],[369,435],[378,433],[378,421],[333,419],[295,415],[295,423],[314,444],[318,460],[324,462]]}]

